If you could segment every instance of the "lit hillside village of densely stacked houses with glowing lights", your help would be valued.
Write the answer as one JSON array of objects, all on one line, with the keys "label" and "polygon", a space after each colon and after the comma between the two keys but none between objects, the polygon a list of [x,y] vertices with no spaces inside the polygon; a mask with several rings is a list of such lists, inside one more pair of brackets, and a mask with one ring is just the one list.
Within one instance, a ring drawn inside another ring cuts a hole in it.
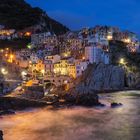
[{"label": "lit hillside village of densely stacked houses with glowing lights", "polygon": [[[117,27],[95,26],[55,35],[51,32],[35,33],[32,29],[16,32],[15,29],[0,26],[0,40],[23,37],[31,38],[26,48],[12,50],[7,47],[0,50],[1,74],[7,81],[19,81],[21,93],[25,89],[26,92],[27,89],[30,89],[30,92],[36,90],[38,86],[43,88],[41,91],[44,96],[58,87],[68,91],[73,87],[75,79],[82,76],[89,65],[112,64],[110,42],[123,42],[128,53],[140,53],[137,35],[121,31]],[[123,57],[119,57],[117,61],[118,65],[125,64]],[[10,69],[5,65],[9,65]],[[14,78],[8,79],[11,67],[16,74]],[[1,94],[11,90],[5,90],[3,87],[1,84]]]}]

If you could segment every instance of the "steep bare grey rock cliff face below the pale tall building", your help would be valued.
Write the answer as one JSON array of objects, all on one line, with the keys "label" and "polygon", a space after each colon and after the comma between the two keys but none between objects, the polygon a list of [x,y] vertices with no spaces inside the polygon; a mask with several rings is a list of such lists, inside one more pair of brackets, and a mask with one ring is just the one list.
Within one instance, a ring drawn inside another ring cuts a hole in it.
[{"label": "steep bare grey rock cliff face below the pale tall building", "polygon": [[125,71],[118,66],[102,63],[90,66],[81,78],[79,81],[82,82],[76,84],[71,92],[92,93],[94,91],[121,90],[125,87]]}]

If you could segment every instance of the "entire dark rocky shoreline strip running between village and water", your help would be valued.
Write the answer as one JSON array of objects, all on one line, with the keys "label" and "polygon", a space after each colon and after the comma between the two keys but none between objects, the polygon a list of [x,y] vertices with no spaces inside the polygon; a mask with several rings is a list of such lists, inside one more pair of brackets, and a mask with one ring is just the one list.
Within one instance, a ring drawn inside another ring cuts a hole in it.
[{"label": "entire dark rocky shoreline strip running between village and water", "polygon": [[41,108],[52,106],[53,108],[69,106],[102,106],[96,94],[78,94],[76,96],[65,94],[63,96],[50,95],[41,100],[30,100],[17,97],[0,97],[0,116],[15,114],[17,110],[27,108]]}]

